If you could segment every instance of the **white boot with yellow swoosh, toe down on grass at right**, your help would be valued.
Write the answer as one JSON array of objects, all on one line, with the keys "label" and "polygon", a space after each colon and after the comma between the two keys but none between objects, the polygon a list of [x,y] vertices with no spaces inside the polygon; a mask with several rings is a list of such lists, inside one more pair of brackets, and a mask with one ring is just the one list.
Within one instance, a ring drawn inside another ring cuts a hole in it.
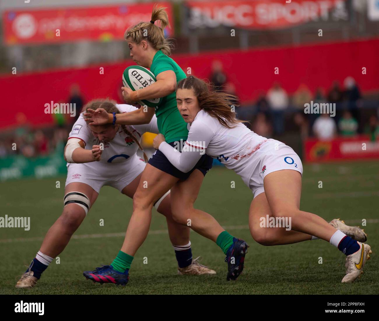
[{"label": "white boot with yellow swoosh, toe down on grass at right", "polygon": [[363,273],[363,266],[370,259],[371,247],[368,244],[358,242],[360,249],[346,256],[346,275],[342,279],[342,283],[354,282]]}]

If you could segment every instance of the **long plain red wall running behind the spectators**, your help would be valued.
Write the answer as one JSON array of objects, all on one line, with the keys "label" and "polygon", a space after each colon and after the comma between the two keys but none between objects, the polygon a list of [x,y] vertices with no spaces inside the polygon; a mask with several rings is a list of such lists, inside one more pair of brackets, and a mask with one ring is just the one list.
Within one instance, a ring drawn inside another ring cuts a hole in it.
[{"label": "long plain red wall running behind the spectators", "polygon": [[[199,55],[174,54],[172,58],[184,71],[191,66],[192,74],[201,79],[209,79],[213,61],[221,61],[228,81],[236,87],[237,96],[243,104],[247,104],[255,101],[260,92],[266,93],[274,82],[280,82],[292,95],[300,83],[307,84],[315,92],[319,87],[329,90],[335,80],[342,84],[347,76],[352,76],[362,93],[378,91],[377,73],[362,74],[362,66],[367,70],[379,70],[377,57],[379,39],[245,51],[223,50]],[[52,124],[53,117],[44,113],[44,105],[51,101],[68,102],[70,87],[74,83],[80,86],[85,102],[103,97],[122,102],[117,90],[121,88],[122,72],[130,65],[133,61],[128,59],[110,65],[28,74],[13,75],[9,71],[8,75],[0,76],[0,88],[6,93],[2,96],[2,105],[13,107],[10,112],[2,113],[0,130],[18,126],[17,115],[20,113],[30,124]],[[276,66],[280,68],[279,75],[272,72]],[[100,74],[100,67],[104,68],[104,74]]]}]

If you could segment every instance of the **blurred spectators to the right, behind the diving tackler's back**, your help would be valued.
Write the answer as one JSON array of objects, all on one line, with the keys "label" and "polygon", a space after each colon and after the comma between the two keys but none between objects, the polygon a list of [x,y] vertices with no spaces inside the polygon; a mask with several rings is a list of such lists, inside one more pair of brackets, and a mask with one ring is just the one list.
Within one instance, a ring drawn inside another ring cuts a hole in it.
[{"label": "blurred spectators to the right, behind the diving tackler's back", "polygon": [[[214,61],[210,82],[215,90],[236,95],[235,85],[228,80],[220,61]],[[305,104],[335,104],[335,116],[305,113]],[[236,104],[239,104],[238,99]],[[301,138],[316,137],[330,140],[336,136],[369,134],[372,140],[379,139],[378,103],[366,104],[356,81],[346,77],[342,86],[335,81],[329,90],[317,88],[315,93],[301,83],[290,96],[279,82],[265,93],[260,92],[252,104],[241,104],[236,108],[238,118],[249,121],[247,126],[264,137],[280,139],[286,131],[296,129]],[[369,107],[370,115],[362,117],[362,107]],[[292,125],[292,126],[291,126]]]}]

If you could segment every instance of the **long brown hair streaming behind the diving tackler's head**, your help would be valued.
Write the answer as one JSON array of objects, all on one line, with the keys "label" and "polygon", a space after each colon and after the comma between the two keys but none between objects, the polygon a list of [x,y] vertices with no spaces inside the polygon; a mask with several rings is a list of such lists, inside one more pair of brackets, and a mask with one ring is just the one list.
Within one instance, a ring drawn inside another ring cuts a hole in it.
[{"label": "long brown hair streaming behind the diving tackler's head", "polygon": [[214,86],[210,83],[190,76],[180,80],[176,90],[192,89],[199,101],[200,109],[204,109],[209,115],[217,118],[220,124],[227,128],[234,128],[239,123],[245,122],[237,119],[235,112],[232,111],[232,106],[236,106],[235,102],[238,98],[223,91],[214,91],[213,88]]}]

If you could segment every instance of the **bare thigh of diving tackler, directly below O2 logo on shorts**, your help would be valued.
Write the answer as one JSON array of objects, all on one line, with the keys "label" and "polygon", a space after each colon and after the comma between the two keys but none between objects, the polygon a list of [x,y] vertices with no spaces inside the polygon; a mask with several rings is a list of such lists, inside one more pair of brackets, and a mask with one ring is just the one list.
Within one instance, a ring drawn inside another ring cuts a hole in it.
[{"label": "bare thigh of diving tackler, directly below O2 logo on shorts", "polygon": [[263,179],[265,194],[274,216],[285,216],[300,208],[301,173],[296,170],[278,170]]}]

